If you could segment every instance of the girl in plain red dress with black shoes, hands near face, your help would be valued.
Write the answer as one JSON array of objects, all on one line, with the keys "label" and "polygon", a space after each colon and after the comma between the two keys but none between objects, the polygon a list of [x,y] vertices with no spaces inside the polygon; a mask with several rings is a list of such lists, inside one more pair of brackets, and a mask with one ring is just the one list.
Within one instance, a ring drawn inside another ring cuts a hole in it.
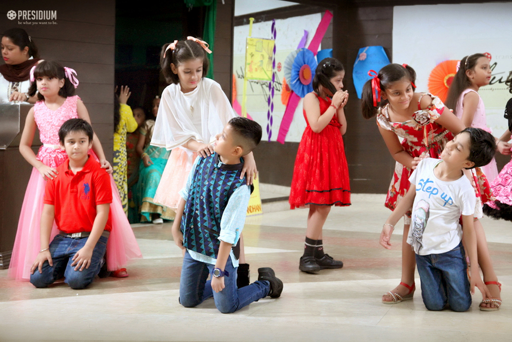
[{"label": "girl in plain red dress with black shoes, hands near face", "polygon": [[[335,58],[316,67],[314,91],[304,97],[306,129],[298,146],[290,191],[290,208],[309,205],[306,242],[299,269],[318,272],[342,268],[343,262],[324,253],[322,228],[331,206],[350,205],[350,183],[342,135],[347,132],[343,107],[345,69]],[[332,97],[332,99],[330,98]]]}]

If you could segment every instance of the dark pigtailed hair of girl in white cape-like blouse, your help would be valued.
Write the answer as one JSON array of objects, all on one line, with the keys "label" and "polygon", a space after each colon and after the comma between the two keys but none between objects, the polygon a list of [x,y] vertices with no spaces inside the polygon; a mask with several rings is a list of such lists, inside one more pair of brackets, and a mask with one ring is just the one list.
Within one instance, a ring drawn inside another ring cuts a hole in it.
[{"label": "dark pigtailed hair of girl in white cape-like blouse", "polygon": [[208,73],[209,60],[206,51],[199,43],[187,39],[177,42],[174,50],[167,50],[169,45],[170,43],[164,44],[160,52],[160,68],[167,83],[178,84],[180,82],[178,75],[170,68],[171,63],[177,68],[186,61],[199,58],[203,60],[203,77]]}]

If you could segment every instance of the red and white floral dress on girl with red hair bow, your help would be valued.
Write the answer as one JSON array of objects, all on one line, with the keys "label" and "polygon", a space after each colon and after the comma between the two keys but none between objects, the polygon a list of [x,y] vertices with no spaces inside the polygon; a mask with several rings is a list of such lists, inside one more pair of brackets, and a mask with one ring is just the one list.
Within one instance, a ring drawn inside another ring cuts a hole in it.
[{"label": "red and white floral dress on girl with red hair bow", "polygon": [[[420,102],[424,95],[432,97],[432,104],[429,108],[421,109]],[[444,104],[439,97],[428,93],[421,94],[418,98],[418,110],[414,112],[412,119],[403,123],[390,121],[388,106],[381,108],[377,114],[377,125],[403,138],[402,147],[412,157],[419,157],[425,152],[427,157],[440,158],[446,143],[453,139],[453,134],[436,123],[444,110]],[[480,169],[475,168],[473,170],[472,185],[477,196],[475,217],[482,217],[482,203],[485,203],[492,195],[489,183]],[[407,193],[411,173],[410,168],[398,162],[395,164],[395,172],[386,197],[385,205],[387,208],[394,210],[400,199]],[[478,187],[476,184],[478,184]],[[409,217],[410,213],[407,216]],[[410,218],[406,219],[406,224],[409,223]]]}]

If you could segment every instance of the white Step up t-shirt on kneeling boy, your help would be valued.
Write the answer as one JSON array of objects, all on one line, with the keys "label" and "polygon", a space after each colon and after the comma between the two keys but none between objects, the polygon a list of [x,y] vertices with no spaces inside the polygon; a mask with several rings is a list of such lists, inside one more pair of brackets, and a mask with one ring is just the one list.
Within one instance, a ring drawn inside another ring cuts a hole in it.
[{"label": "white Step up t-shirt on kneeling boy", "polygon": [[462,239],[460,215],[473,215],[476,196],[465,175],[452,182],[436,177],[442,160],[421,160],[409,181],[416,187],[407,243],[419,255],[441,254],[454,249]]}]

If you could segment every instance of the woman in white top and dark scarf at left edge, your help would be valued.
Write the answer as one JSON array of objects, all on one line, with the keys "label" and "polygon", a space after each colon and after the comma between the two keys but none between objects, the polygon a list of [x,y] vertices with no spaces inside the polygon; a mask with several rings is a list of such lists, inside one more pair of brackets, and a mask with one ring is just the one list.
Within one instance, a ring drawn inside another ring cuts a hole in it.
[{"label": "woman in white top and dark scarf at left edge", "polygon": [[4,32],[2,57],[5,64],[0,66],[0,103],[35,103],[35,96],[30,98],[27,93],[30,87],[30,69],[40,59],[37,47],[24,29],[13,28]]}]

